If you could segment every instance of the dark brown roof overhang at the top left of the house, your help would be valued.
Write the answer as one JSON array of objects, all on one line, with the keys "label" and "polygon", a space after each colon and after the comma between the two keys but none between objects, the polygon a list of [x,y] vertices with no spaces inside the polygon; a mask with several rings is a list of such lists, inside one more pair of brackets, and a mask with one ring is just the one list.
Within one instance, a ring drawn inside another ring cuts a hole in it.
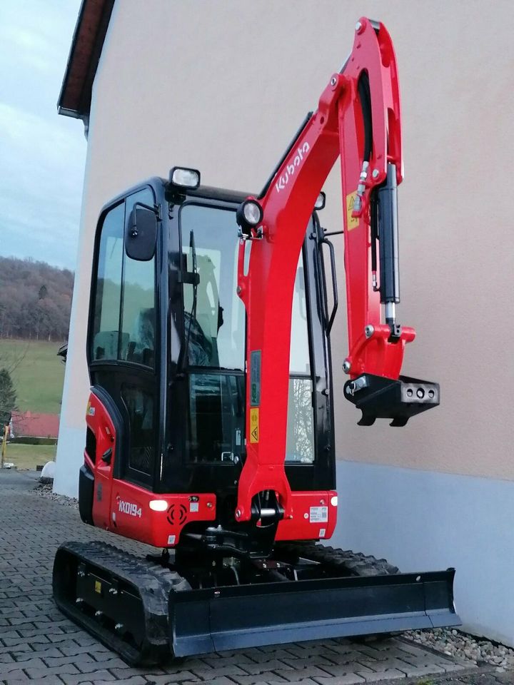
[{"label": "dark brown roof overhang at the top left of the house", "polygon": [[88,126],[91,90],[111,19],[114,0],[82,0],[57,111]]}]

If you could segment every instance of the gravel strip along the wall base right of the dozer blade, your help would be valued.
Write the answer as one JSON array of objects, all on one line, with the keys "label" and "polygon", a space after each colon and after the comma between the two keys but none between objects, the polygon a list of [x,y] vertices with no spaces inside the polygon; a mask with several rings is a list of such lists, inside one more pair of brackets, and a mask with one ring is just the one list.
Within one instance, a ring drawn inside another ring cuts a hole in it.
[{"label": "gravel strip along the wall base right of the dozer blade", "polygon": [[402,637],[471,664],[489,664],[500,671],[514,669],[514,649],[455,629],[412,630]]}]

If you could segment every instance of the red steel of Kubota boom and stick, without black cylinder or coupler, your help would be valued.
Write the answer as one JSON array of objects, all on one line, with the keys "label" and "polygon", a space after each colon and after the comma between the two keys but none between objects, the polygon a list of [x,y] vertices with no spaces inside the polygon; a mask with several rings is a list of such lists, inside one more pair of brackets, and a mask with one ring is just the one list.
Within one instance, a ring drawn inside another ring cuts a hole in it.
[{"label": "red steel of Kubota boom and stick, without black cylinder or coupler", "polygon": [[[321,94],[318,110],[278,167],[263,198],[259,234],[252,231],[248,273],[243,261],[246,240],[239,246],[238,294],[247,313],[246,462],[238,484],[236,519],[251,517],[253,497],[274,491],[292,517],[291,490],[284,470],[289,382],[291,309],[296,266],[314,203],[328,173],[341,156],[351,374],[366,370],[397,378],[403,346],[412,329],[388,342],[390,328],[381,323],[379,295],[373,292],[369,195],[394,161],[401,181],[400,104],[395,56],[382,24],[361,19],[353,51]],[[364,128],[358,80],[367,71],[373,121],[370,169],[361,187],[361,209],[353,210],[363,167]],[[352,201],[348,211],[347,203]],[[370,338],[366,325],[373,325]],[[259,358],[260,357],[260,358]],[[254,386],[252,388],[252,385]],[[253,393],[253,395],[252,395]]]}]

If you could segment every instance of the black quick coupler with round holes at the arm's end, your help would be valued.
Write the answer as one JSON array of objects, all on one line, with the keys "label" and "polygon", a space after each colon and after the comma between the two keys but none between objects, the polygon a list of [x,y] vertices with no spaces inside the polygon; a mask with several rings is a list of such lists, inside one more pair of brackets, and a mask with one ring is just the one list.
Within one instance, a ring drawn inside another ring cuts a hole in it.
[{"label": "black quick coupler with round holes at the arm's end", "polygon": [[390,419],[391,426],[404,426],[411,416],[437,407],[439,384],[400,376],[398,380],[363,373],[345,383],[344,393],[362,412],[360,426],[371,426],[376,419]]}]

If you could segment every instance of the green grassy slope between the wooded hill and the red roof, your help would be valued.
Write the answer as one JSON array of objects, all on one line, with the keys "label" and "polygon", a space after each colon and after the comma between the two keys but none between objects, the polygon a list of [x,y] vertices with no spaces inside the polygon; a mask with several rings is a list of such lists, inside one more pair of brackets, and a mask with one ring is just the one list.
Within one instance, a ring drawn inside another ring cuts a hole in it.
[{"label": "green grassy slope between the wooded hill and the red roof", "polygon": [[15,367],[11,377],[19,411],[61,413],[64,364],[57,356],[60,345],[44,340],[0,340],[0,368]]}]

